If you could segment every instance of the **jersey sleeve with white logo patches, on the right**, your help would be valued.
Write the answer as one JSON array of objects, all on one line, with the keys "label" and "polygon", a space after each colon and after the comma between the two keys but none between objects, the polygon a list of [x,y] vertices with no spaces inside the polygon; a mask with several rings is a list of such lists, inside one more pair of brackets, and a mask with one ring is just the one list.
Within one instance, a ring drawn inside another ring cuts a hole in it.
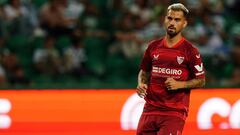
[{"label": "jersey sleeve with white logo patches, on the right", "polygon": [[192,78],[205,78],[205,68],[198,49],[189,52],[189,68]]}]

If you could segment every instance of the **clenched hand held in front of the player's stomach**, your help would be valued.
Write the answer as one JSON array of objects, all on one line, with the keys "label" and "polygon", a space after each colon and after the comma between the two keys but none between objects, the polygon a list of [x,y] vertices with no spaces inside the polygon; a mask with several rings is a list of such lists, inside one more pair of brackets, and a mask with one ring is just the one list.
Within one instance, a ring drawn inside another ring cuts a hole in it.
[{"label": "clenched hand held in front of the player's stomach", "polygon": [[176,81],[173,78],[167,78],[165,81],[166,87],[168,90],[177,90],[184,88],[184,84],[181,81]]}]

